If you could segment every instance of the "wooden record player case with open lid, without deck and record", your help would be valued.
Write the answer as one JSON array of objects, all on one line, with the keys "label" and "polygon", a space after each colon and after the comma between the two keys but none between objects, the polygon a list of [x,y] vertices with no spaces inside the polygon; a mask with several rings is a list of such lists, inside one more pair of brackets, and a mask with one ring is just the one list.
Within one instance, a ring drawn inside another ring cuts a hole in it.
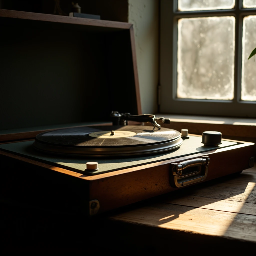
[{"label": "wooden record player case with open lid, without deck and record", "polygon": [[[52,129],[110,124],[112,110],[141,114],[131,24],[10,10],[0,10],[0,24],[2,144]],[[234,142],[94,176],[2,150],[1,197],[94,215],[241,172],[253,165],[253,150],[253,143]],[[202,161],[205,169],[194,182],[177,184],[173,167],[186,161],[192,167]]]}]

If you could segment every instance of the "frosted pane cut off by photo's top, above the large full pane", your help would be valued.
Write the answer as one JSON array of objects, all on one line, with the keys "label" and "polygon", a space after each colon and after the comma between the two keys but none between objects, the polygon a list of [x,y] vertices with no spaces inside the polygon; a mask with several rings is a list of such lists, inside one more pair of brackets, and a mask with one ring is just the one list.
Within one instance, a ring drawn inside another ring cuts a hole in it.
[{"label": "frosted pane cut off by photo's top, above the large full pane", "polygon": [[180,11],[231,9],[234,6],[235,0],[178,0]]}]

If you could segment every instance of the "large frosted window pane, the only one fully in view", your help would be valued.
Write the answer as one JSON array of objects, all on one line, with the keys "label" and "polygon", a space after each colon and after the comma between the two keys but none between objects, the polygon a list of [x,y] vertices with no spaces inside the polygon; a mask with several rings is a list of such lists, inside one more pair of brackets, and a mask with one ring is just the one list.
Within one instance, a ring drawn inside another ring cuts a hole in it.
[{"label": "large frosted window pane, the only one fully in view", "polygon": [[177,97],[233,99],[235,18],[178,20]]}]

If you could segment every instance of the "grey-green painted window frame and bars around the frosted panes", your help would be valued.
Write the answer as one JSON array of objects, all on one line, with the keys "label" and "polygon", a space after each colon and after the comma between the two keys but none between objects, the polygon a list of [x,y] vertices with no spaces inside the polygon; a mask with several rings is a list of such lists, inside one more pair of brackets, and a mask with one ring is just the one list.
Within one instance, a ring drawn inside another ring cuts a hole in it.
[{"label": "grey-green painted window frame and bars around the frosted panes", "polygon": [[[256,101],[241,100],[242,25],[243,17],[256,15],[256,8],[243,8],[237,0],[233,9],[178,11],[178,1],[160,3],[160,87],[161,113],[256,117]],[[234,98],[233,100],[205,100],[177,98],[177,22],[179,18],[234,16]],[[256,45],[255,45],[256,47]],[[253,49],[252,49],[253,50]],[[252,60],[253,61],[253,60]],[[256,63],[255,63],[256,72]]]}]

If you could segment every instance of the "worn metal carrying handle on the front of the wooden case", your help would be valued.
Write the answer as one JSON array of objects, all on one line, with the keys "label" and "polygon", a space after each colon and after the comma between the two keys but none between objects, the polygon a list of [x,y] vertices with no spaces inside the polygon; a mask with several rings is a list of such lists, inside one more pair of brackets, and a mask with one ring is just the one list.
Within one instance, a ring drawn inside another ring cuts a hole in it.
[{"label": "worn metal carrying handle on the front of the wooden case", "polygon": [[[170,165],[170,185],[179,188],[203,181],[207,176],[209,163],[208,156],[172,163]],[[195,170],[194,167],[198,168]],[[191,168],[190,172],[189,168]]]}]

